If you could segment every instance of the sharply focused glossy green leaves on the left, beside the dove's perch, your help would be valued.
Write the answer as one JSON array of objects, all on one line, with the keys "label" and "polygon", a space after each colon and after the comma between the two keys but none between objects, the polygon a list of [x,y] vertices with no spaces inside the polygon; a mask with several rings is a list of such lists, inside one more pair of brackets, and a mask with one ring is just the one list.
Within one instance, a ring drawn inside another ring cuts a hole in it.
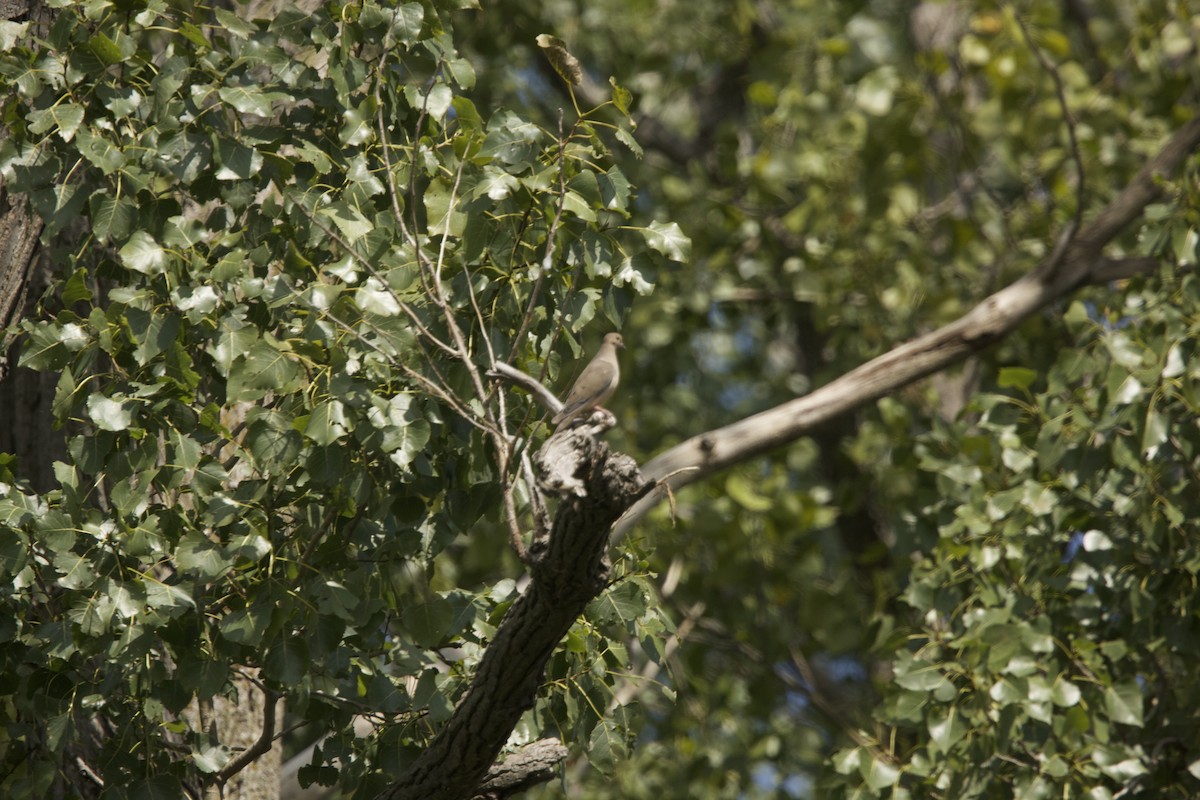
[{"label": "sharply focused glossy green leaves on the left, beside the dove's perch", "polygon": [[[306,778],[368,794],[516,591],[478,523],[542,411],[481,372],[554,379],[686,241],[628,219],[624,130],[482,116],[431,7],[52,5],[0,66],[5,179],[62,264],[22,363],[61,375],[71,455],[44,495],[2,475],[5,794],[52,790],[101,718],[103,783],[178,796],[230,760],[186,709],[235,674],[334,732]],[[486,583],[438,558],[463,541]],[[587,742],[624,639],[662,630],[625,572],[532,733]]]}]

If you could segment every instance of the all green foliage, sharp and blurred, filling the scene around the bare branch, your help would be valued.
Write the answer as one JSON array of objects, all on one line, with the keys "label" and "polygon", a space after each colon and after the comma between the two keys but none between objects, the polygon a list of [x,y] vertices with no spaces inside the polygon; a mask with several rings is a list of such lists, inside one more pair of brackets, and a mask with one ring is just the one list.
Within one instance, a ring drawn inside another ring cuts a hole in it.
[{"label": "all green foliage, sharp and blurred, filling the scene around the bare branch", "polygon": [[[522,575],[493,360],[622,327],[644,458],[1027,272],[1196,106],[1166,0],[48,5],[0,23],[70,452],[0,456],[6,796],[222,776],[242,675],[371,796]],[[1160,273],[664,505],[514,744],[572,796],[1196,794],[1195,175],[1121,242]]]}]

